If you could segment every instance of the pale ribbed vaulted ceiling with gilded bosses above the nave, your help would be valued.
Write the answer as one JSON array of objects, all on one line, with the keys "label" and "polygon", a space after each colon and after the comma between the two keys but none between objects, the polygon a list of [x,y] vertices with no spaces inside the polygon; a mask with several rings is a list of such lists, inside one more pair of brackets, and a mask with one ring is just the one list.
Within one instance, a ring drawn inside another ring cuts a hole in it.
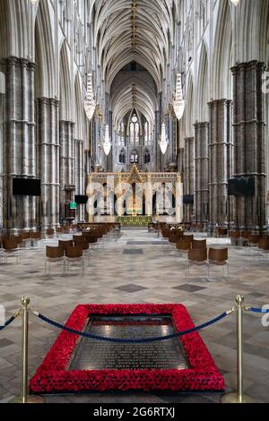
[{"label": "pale ribbed vaulted ceiling with gilded bosses above the nave", "polygon": [[[152,119],[157,91],[162,90],[169,63],[169,48],[174,39],[178,17],[177,0],[90,0],[90,21],[93,25],[102,80],[109,92],[117,73],[136,62],[151,74],[155,92],[137,86],[137,108]],[[124,116],[132,106],[132,85],[124,86],[122,95],[114,96],[114,109]],[[136,82],[137,83],[137,82]],[[155,98],[152,97],[152,95]],[[129,98],[129,100],[128,100]]]}]

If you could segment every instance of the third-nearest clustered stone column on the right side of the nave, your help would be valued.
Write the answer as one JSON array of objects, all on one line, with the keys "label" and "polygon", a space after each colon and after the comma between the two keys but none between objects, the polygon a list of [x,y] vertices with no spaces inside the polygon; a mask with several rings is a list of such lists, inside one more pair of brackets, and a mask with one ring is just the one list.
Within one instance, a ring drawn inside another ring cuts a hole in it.
[{"label": "third-nearest clustered stone column on the right side of the nave", "polygon": [[208,134],[209,123],[195,123],[195,219],[208,222]]}]

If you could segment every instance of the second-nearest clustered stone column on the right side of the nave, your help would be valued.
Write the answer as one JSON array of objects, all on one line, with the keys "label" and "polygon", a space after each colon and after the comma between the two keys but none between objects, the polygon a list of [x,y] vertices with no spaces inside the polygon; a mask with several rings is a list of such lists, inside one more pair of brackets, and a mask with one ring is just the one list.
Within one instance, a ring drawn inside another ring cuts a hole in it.
[{"label": "second-nearest clustered stone column on the right side of the nave", "polygon": [[228,196],[228,180],[232,176],[232,101],[219,99],[210,102],[209,133],[209,203],[210,227],[232,219]]}]

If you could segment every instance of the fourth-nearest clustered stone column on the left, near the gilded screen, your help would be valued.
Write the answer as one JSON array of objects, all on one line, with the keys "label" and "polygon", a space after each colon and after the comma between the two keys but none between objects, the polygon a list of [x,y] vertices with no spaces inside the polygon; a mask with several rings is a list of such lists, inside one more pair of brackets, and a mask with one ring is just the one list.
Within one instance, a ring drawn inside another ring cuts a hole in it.
[{"label": "fourth-nearest clustered stone column on the left, near the gilded screen", "polygon": [[[84,194],[85,191],[85,173],[84,173],[84,141],[75,140],[75,192]],[[80,205],[77,210],[77,219],[84,220],[84,206]]]}]

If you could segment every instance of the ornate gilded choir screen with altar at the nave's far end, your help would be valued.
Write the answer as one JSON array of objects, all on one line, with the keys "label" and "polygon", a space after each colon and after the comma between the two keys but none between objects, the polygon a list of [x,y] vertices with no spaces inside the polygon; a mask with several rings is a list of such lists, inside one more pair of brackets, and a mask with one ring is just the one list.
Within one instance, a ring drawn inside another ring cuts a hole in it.
[{"label": "ornate gilded choir screen with altar at the nave's far end", "polygon": [[[153,219],[183,220],[183,185],[179,173],[129,173],[88,176],[89,222],[120,221],[123,226],[147,226]],[[145,219],[147,217],[147,219]],[[135,221],[136,219],[136,221]]]}]

